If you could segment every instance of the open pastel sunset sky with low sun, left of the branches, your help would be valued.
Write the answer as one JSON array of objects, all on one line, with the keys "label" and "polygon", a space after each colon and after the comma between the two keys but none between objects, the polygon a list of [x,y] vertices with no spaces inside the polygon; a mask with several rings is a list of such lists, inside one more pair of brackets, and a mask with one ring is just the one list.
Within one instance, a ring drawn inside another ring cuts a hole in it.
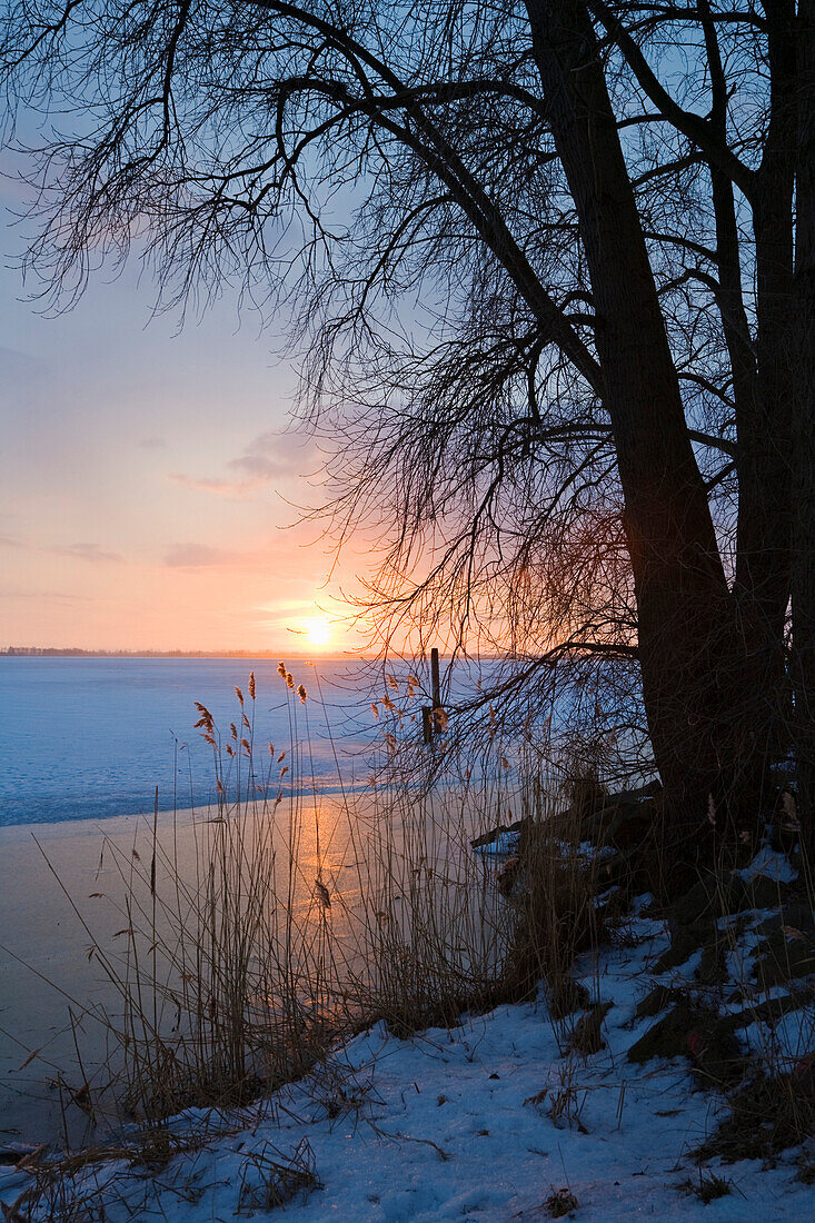
[{"label": "open pastel sunset sky with low sun, left of the branches", "polygon": [[333,556],[297,505],[322,456],[290,428],[280,325],[226,292],[179,331],[138,267],[47,318],[15,267],[0,181],[0,648],[352,648],[363,558]]}]

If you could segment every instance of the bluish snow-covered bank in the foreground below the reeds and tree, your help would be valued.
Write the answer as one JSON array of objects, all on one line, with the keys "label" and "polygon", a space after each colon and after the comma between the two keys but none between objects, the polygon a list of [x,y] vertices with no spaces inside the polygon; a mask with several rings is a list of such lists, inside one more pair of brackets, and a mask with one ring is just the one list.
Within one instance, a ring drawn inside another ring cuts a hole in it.
[{"label": "bluish snow-covered bank in the foreground below the reeds and tree", "polygon": [[[269,1161],[299,1152],[319,1188],[285,1203],[290,1223],[542,1219],[560,1190],[576,1202],[570,1217],[597,1223],[810,1218],[815,1188],[795,1179],[800,1152],[772,1168],[742,1162],[700,1170],[693,1148],[723,1103],[696,1088],[685,1060],[638,1066],[625,1057],[653,1022],[635,1020],[634,1010],[653,985],[644,970],[668,945],[666,929],[634,918],[620,942],[578,966],[592,994],[612,1003],[606,1047],[592,1057],[567,1052],[563,1030],[559,1043],[543,996],[408,1041],[378,1025],[253,1109],[220,1120],[179,1118],[180,1141],[202,1135],[197,1150],[152,1170],[124,1159],[92,1164],[31,1217],[86,1218],[69,1213],[82,1199],[97,1210],[87,1218],[106,1223],[263,1217]],[[729,1192],[702,1205],[687,1183],[711,1172],[729,1181]],[[0,1173],[0,1200],[11,1206],[29,1184],[26,1169]],[[48,1213],[54,1203],[62,1213]],[[6,1214],[12,1223],[28,1217]]]}]

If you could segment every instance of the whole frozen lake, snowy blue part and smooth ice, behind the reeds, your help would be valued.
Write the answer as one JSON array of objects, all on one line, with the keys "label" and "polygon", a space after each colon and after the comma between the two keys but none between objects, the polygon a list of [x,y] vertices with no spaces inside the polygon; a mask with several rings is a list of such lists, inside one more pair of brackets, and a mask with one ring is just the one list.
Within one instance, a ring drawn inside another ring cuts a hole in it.
[{"label": "whole frozen lake, snowy blue part and smooth ice, behind the reeds", "polygon": [[[268,804],[263,796],[258,801],[263,821],[270,819],[277,829],[284,876],[288,829],[296,812],[295,909],[310,911],[314,879],[322,878],[333,898],[333,937],[340,942],[346,929],[360,926],[366,911],[362,892],[374,885],[365,865],[368,852],[377,859],[382,845],[393,846],[412,879],[416,851],[403,852],[404,838],[416,829],[421,837],[436,835],[438,844],[422,860],[434,861],[441,877],[452,852],[454,871],[470,860],[470,837],[492,827],[496,815],[512,822],[505,795],[514,770],[505,766],[498,769],[504,797],[497,805],[482,802],[487,791],[477,790],[474,813],[465,819],[458,799],[453,802],[453,823],[461,823],[454,841],[448,840],[441,808],[434,832],[421,806],[414,827],[412,800],[396,816],[379,789],[367,789],[371,764],[377,752],[385,751],[383,739],[390,730],[419,745],[421,707],[428,702],[425,674],[419,671],[417,682],[409,685],[406,671],[390,680],[382,671],[378,678],[365,676],[359,663],[326,660],[318,674],[306,663],[290,662],[289,669],[295,691],[269,659],[0,658],[0,1146],[18,1136],[39,1140],[60,1132],[61,1097],[54,1081],[62,1071],[69,1081],[81,1080],[67,1008],[77,1015],[93,1007],[116,1007],[97,958],[88,956],[88,933],[72,903],[87,915],[100,944],[114,945],[122,926],[116,898],[124,885],[111,846],[117,846],[120,865],[131,855],[149,862],[157,785],[165,813],[158,821],[159,839],[180,854],[180,876],[197,877],[201,829],[218,795],[212,747],[195,728],[196,701],[212,712],[224,748],[234,742],[231,722],[239,739],[253,736],[256,767],[263,762],[268,769],[268,779],[256,777],[268,780],[270,795]],[[248,698],[251,670],[255,702]],[[456,669],[459,689],[477,679],[477,668]],[[308,692],[305,704],[296,693],[300,684]],[[241,724],[236,685],[245,695],[250,728]],[[412,758],[421,761],[423,750],[416,746],[416,752]],[[246,795],[247,766],[241,757],[240,747],[235,756],[221,753],[228,806],[237,790],[239,767]],[[341,794],[337,793],[340,775]],[[257,786],[250,789],[256,799]],[[280,791],[278,810],[274,800]],[[360,805],[352,819],[351,799]],[[389,852],[385,856],[394,860]],[[478,878],[489,873],[488,865],[482,870],[477,863],[475,870]],[[159,872],[159,888],[171,892],[171,877]],[[474,894],[474,903],[477,899]],[[275,903],[272,896],[270,904]],[[291,903],[290,898],[289,907]],[[91,1020],[83,1022],[83,1055],[91,1064],[104,1062],[103,1036]],[[77,1109],[73,1114],[81,1136],[87,1119]]]}]

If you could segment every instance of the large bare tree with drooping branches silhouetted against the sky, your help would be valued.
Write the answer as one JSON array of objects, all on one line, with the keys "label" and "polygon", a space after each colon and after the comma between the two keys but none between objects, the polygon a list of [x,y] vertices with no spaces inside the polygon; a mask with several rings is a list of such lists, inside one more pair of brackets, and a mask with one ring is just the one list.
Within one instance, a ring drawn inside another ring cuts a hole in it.
[{"label": "large bare tree with drooping branches silhouetted against the sky", "polygon": [[636,651],[677,835],[755,813],[784,746],[803,23],[18,0],[2,32],[10,95],[76,116],[33,180],[47,285],[136,243],[168,305],[292,294],[338,530],[385,531],[378,624],[509,626],[523,674]]}]

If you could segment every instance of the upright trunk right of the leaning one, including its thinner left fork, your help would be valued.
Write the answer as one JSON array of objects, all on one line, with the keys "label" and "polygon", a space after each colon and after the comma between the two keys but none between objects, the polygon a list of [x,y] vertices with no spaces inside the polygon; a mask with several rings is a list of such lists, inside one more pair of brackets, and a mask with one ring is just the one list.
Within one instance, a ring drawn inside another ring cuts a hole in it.
[{"label": "upright trunk right of the leaning one, including its thinner left fork", "polygon": [[[770,122],[759,170],[751,176],[756,262],[755,345],[744,309],[742,256],[733,183],[710,166],[718,303],[733,373],[738,437],[739,510],[733,594],[746,656],[745,742],[756,773],[789,739],[783,634],[789,605],[789,422],[795,394],[789,302],[793,297],[793,180],[795,169],[795,5],[767,0]],[[700,0],[711,78],[710,126],[728,144],[729,94],[709,0]]]}]

